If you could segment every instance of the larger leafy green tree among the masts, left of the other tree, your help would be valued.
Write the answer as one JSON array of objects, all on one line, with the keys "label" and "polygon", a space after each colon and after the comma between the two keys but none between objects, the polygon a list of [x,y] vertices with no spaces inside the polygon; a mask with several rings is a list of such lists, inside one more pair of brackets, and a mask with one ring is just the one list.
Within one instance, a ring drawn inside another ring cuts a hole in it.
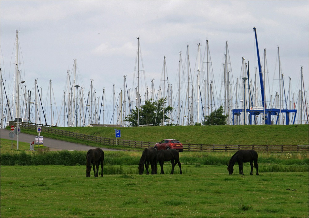
[{"label": "larger leafy green tree among the masts, left of the other tree", "polygon": [[[129,126],[137,126],[137,117],[139,113],[139,125],[152,125],[160,126],[163,123],[163,102],[166,103],[166,99],[159,99],[154,101],[153,99],[146,100],[145,105],[139,108],[135,107],[132,113],[125,117],[124,121],[129,122]],[[167,113],[170,113],[173,107],[170,105],[164,108],[164,120],[169,120]]]}]

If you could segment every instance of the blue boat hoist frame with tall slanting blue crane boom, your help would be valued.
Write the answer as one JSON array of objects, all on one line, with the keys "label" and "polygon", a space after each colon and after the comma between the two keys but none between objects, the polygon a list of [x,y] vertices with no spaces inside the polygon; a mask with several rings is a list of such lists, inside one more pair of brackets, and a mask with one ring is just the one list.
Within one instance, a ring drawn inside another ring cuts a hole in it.
[{"label": "blue boat hoist frame with tall slanting blue crane boom", "polygon": [[[263,75],[262,75],[262,67],[261,67],[261,62],[260,62],[260,52],[259,52],[259,45],[257,43],[257,36],[256,36],[256,28],[253,28],[254,33],[255,33],[255,39],[256,39],[256,50],[257,50],[257,60],[258,60],[258,65],[259,65],[259,75],[260,75],[260,86],[261,86],[261,95],[262,95],[262,104],[263,104],[263,109],[233,109],[233,125],[238,125],[239,124],[239,116],[241,115],[242,112],[248,113],[249,114],[249,124],[252,124],[252,116],[258,116],[261,113],[264,114],[264,119],[265,119],[265,124],[271,125],[271,124],[280,124],[278,123],[280,115],[282,113],[286,113],[286,125],[290,124],[290,113],[294,113],[294,116],[292,117],[293,124],[295,123],[295,118],[296,118],[296,109],[276,109],[276,108],[269,108],[267,109],[266,102],[265,102],[265,90],[264,90],[264,83],[263,83]],[[249,71],[247,70],[247,75],[249,78]],[[250,87],[249,87],[250,90]],[[244,100],[244,107],[246,107],[246,100]],[[275,115],[277,116],[276,122],[273,123],[271,121],[271,116]],[[235,123],[235,116],[236,116],[236,123]],[[255,119],[253,119],[254,122],[256,122]],[[246,123],[245,123],[246,124]],[[256,123],[254,123],[256,124]],[[283,123],[282,123],[283,124]]]}]

